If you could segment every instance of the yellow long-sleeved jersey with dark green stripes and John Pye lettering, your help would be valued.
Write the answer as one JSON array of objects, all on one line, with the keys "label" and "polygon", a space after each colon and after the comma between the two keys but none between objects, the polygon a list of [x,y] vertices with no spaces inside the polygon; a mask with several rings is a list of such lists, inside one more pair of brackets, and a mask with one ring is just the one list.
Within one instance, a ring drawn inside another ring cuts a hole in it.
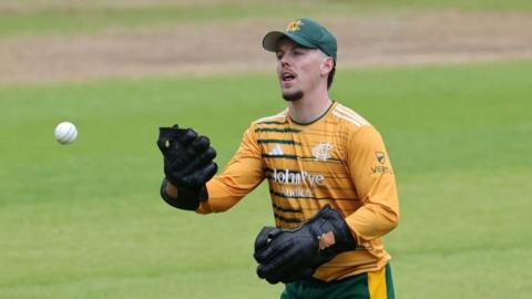
[{"label": "yellow long-sleeved jersey with dark green stripes and John Pye lettering", "polygon": [[197,212],[226,210],[265,178],[277,227],[298,227],[328,204],[356,236],[358,248],[321,265],[315,278],[375,271],[390,259],[380,237],[399,219],[393,171],[380,134],[352,110],[335,102],[310,124],[295,123],[288,110],[254,122]]}]

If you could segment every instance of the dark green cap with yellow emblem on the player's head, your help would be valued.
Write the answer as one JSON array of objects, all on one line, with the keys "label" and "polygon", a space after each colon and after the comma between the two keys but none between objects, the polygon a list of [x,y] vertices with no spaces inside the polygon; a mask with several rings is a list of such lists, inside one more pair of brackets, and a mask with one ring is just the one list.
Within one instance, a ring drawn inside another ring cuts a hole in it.
[{"label": "dark green cap with yellow emblem on the player's head", "polygon": [[263,39],[264,49],[276,52],[277,42],[285,37],[305,48],[319,49],[336,62],[336,38],[320,23],[298,19],[290,22],[285,31],[270,31]]}]

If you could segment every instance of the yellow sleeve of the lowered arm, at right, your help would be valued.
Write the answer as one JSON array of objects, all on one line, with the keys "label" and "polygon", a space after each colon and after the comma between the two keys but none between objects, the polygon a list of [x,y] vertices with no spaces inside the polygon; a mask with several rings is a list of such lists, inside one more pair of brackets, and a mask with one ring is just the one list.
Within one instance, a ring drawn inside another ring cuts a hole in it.
[{"label": "yellow sleeve of the lowered arm, at right", "polygon": [[372,126],[352,133],[347,163],[362,205],[346,221],[359,243],[379,238],[398,225],[399,200],[385,144]]}]

